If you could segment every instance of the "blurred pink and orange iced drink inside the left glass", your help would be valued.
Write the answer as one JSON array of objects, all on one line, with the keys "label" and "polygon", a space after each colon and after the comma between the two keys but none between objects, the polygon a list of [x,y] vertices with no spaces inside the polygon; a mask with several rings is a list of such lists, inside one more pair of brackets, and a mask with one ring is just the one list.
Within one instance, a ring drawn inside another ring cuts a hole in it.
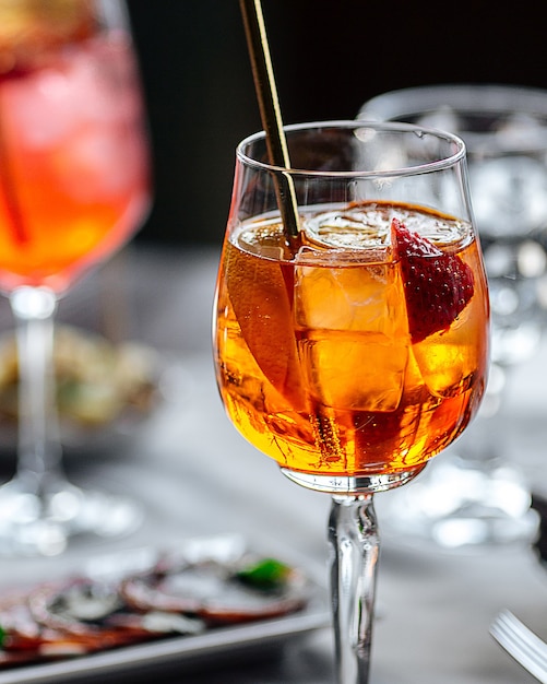
[{"label": "blurred pink and orange iced drink inside the left glass", "polygon": [[[16,4],[12,23],[0,27],[4,292],[66,290],[127,241],[148,201],[130,38],[121,31],[97,33],[88,7]],[[9,8],[1,10],[7,19]]]}]

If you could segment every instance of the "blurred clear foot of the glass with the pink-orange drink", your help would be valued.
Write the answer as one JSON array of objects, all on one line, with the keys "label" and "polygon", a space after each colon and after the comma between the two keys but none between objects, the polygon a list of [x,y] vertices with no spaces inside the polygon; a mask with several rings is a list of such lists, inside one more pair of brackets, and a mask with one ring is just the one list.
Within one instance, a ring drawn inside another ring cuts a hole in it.
[{"label": "blurred clear foot of the glass with the pink-orange drink", "polygon": [[116,538],[142,522],[133,502],[56,482],[43,497],[16,479],[0,487],[0,556],[55,556],[71,538]]}]

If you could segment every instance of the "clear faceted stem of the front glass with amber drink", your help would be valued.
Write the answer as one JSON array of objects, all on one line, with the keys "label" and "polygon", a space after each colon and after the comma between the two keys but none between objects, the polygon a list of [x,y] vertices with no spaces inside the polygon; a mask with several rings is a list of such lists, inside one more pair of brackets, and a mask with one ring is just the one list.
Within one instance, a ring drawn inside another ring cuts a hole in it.
[{"label": "clear faceted stem of the front glass with amber drink", "polygon": [[371,494],[333,496],[329,543],[337,682],[367,684],[380,550]]}]

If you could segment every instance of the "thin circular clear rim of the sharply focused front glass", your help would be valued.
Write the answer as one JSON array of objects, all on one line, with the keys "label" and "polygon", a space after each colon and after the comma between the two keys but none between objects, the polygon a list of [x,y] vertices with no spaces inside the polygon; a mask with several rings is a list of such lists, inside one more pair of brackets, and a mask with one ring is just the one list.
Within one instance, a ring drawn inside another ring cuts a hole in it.
[{"label": "thin circular clear rim of the sharply focused front glass", "polygon": [[322,128],[336,128],[340,130],[377,130],[387,132],[401,132],[401,133],[415,133],[416,137],[423,138],[425,135],[431,135],[438,140],[443,140],[454,145],[454,151],[451,154],[438,155],[438,158],[432,158],[429,162],[423,162],[414,164],[413,166],[400,166],[394,168],[382,169],[346,169],[346,170],[321,170],[321,169],[306,169],[298,167],[286,168],[284,166],[277,166],[270,164],[261,160],[255,160],[249,156],[245,150],[248,150],[251,144],[257,141],[265,140],[265,131],[258,131],[248,135],[236,148],[237,160],[247,166],[254,167],[260,170],[274,173],[274,174],[290,174],[290,176],[307,176],[307,177],[320,177],[320,178],[393,178],[404,176],[416,176],[420,174],[430,174],[455,166],[457,163],[466,158],[466,146],[463,139],[454,133],[442,131],[439,129],[430,128],[427,126],[418,126],[415,123],[404,123],[399,121],[367,121],[359,119],[340,119],[328,121],[312,121],[306,123],[293,123],[284,126],[283,130],[286,133],[306,131],[306,130],[319,130]]}]

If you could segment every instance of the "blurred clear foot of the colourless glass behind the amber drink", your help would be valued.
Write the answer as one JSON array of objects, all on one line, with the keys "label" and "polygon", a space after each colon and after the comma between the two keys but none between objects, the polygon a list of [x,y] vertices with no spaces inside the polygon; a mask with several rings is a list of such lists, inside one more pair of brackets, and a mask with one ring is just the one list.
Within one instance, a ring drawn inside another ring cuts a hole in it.
[{"label": "blurred clear foot of the colourless glass behind the amber drink", "polygon": [[423,477],[382,502],[382,526],[407,541],[450,549],[532,543],[539,516],[509,464],[444,455]]}]

